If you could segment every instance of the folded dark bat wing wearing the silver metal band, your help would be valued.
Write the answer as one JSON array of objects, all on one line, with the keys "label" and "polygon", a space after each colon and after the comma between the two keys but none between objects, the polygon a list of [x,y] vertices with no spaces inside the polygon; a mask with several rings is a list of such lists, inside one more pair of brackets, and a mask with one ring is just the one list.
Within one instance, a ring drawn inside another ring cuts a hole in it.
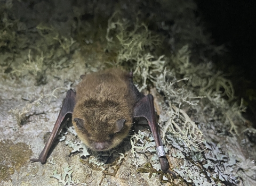
[{"label": "folded dark bat wing wearing the silver metal band", "polygon": [[153,133],[153,137],[156,142],[156,153],[161,164],[161,169],[167,171],[169,164],[165,156],[162,139],[157,129],[155,108],[154,108],[154,97],[149,94],[143,96],[134,106],[133,117],[145,117],[148,121],[148,125]]}]

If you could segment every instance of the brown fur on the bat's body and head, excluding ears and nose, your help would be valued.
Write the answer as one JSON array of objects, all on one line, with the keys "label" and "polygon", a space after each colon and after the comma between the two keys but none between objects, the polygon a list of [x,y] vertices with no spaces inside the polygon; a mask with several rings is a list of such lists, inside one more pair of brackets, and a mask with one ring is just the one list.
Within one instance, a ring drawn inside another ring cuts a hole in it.
[{"label": "brown fur on the bat's body and head, excluding ears and nose", "polygon": [[[84,130],[73,121],[75,130],[92,150],[97,150],[95,142],[103,142],[104,150],[109,150],[122,142],[132,126],[135,97],[129,86],[131,77],[121,70],[109,69],[82,78],[76,90],[73,119],[82,119]],[[125,119],[125,126],[114,133],[119,119]]]}]

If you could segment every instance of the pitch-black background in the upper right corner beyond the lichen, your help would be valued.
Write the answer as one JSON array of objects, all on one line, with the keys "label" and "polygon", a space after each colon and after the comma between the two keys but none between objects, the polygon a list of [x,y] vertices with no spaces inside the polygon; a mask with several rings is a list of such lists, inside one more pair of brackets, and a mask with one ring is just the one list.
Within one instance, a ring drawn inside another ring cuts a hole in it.
[{"label": "pitch-black background in the upper right corner beyond the lichen", "polygon": [[256,127],[256,1],[196,2],[213,43],[225,44],[229,53],[216,64],[230,74],[236,96],[246,101],[244,116]]}]

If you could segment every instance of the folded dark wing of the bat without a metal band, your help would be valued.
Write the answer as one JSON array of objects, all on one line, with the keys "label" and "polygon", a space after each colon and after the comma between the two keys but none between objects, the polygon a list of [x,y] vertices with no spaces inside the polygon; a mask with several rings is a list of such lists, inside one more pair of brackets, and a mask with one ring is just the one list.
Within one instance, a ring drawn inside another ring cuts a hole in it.
[{"label": "folded dark wing of the bat without a metal band", "polygon": [[68,90],[67,96],[63,101],[59,116],[57,121],[55,122],[52,133],[45,144],[44,149],[39,155],[38,159],[30,159],[31,162],[41,162],[45,163],[49,150],[53,144],[54,139],[58,136],[58,133],[63,128],[63,126],[67,123],[67,118],[70,117],[70,114],[73,113],[76,101],[76,92],[72,89]]}]

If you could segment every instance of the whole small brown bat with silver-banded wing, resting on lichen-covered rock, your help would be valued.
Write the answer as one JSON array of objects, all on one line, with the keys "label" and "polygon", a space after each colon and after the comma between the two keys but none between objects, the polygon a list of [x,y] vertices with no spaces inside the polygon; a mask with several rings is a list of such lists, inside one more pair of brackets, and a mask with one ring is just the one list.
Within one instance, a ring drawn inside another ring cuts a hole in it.
[{"label": "whole small brown bat with silver-banded wing, resting on lichen-covered rock", "polygon": [[134,86],[132,72],[108,69],[81,75],[76,92],[70,89],[63,101],[51,136],[38,159],[45,163],[54,139],[62,129],[68,114],[78,137],[95,151],[116,147],[128,135],[133,117],[145,117],[156,142],[156,151],[163,171],[169,169],[162,140],[157,130],[153,96],[141,94]]}]

